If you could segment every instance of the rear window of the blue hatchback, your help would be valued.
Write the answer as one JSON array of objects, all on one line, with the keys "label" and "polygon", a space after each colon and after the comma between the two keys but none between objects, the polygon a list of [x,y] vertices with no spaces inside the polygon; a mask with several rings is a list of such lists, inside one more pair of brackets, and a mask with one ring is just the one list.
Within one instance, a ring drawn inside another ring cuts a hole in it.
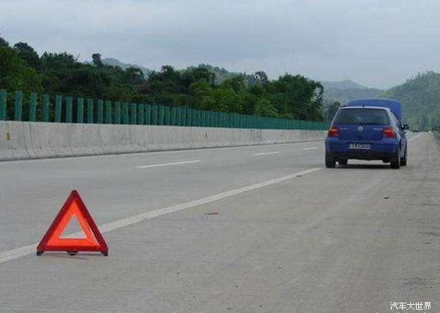
[{"label": "rear window of the blue hatchback", "polygon": [[385,110],[377,108],[344,108],[334,124],[389,124]]}]

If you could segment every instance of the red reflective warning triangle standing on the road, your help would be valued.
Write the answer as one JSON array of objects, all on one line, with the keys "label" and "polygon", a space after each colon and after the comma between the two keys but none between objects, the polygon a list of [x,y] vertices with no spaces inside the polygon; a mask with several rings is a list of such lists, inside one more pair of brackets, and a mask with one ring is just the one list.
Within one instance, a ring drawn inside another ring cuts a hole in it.
[{"label": "red reflective warning triangle standing on the road", "polygon": [[[82,233],[75,233],[78,237],[62,237],[69,221],[77,220]],[[94,220],[80,195],[74,190],[65,204],[58,212],[54,222],[45,233],[36,254],[41,255],[45,251],[67,251],[76,254],[78,251],[97,251],[103,255],[109,254],[109,248],[102,237]]]}]

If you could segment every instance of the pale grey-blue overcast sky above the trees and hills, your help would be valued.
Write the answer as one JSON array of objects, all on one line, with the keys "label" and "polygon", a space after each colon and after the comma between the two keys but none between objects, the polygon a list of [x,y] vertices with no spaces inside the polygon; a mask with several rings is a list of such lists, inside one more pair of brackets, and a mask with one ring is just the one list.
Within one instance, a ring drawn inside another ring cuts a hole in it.
[{"label": "pale grey-blue overcast sky above the trees and hills", "polygon": [[438,0],[0,0],[0,33],[80,60],[208,63],[386,88],[440,71]]}]

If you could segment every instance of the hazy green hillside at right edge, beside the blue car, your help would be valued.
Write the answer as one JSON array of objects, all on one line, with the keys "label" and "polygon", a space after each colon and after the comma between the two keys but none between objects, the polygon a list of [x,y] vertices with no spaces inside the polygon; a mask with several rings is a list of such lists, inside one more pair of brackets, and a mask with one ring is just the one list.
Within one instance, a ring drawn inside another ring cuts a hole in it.
[{"label": "hazy green hillside at right edge, beside the blue car", "polygon": [[440,127],[440,73],[428,71],[382,95],[403,106],[404,121],[422,130]]}]

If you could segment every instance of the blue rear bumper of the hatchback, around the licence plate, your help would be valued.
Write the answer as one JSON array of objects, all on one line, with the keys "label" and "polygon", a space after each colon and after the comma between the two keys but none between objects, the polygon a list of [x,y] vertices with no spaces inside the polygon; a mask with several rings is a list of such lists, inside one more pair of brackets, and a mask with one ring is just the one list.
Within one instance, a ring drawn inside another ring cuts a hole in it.
[{"label": "blue rear bumper of the hatchback, around the licence plate", "polygon": [[331,140],[325,141],[326,153],[335,159],[384,160],[392,159],[399,151],[399,143],[395,141],[362,141],[369,143],[370,150],[351,150],[349,143],[356,141]]}]

